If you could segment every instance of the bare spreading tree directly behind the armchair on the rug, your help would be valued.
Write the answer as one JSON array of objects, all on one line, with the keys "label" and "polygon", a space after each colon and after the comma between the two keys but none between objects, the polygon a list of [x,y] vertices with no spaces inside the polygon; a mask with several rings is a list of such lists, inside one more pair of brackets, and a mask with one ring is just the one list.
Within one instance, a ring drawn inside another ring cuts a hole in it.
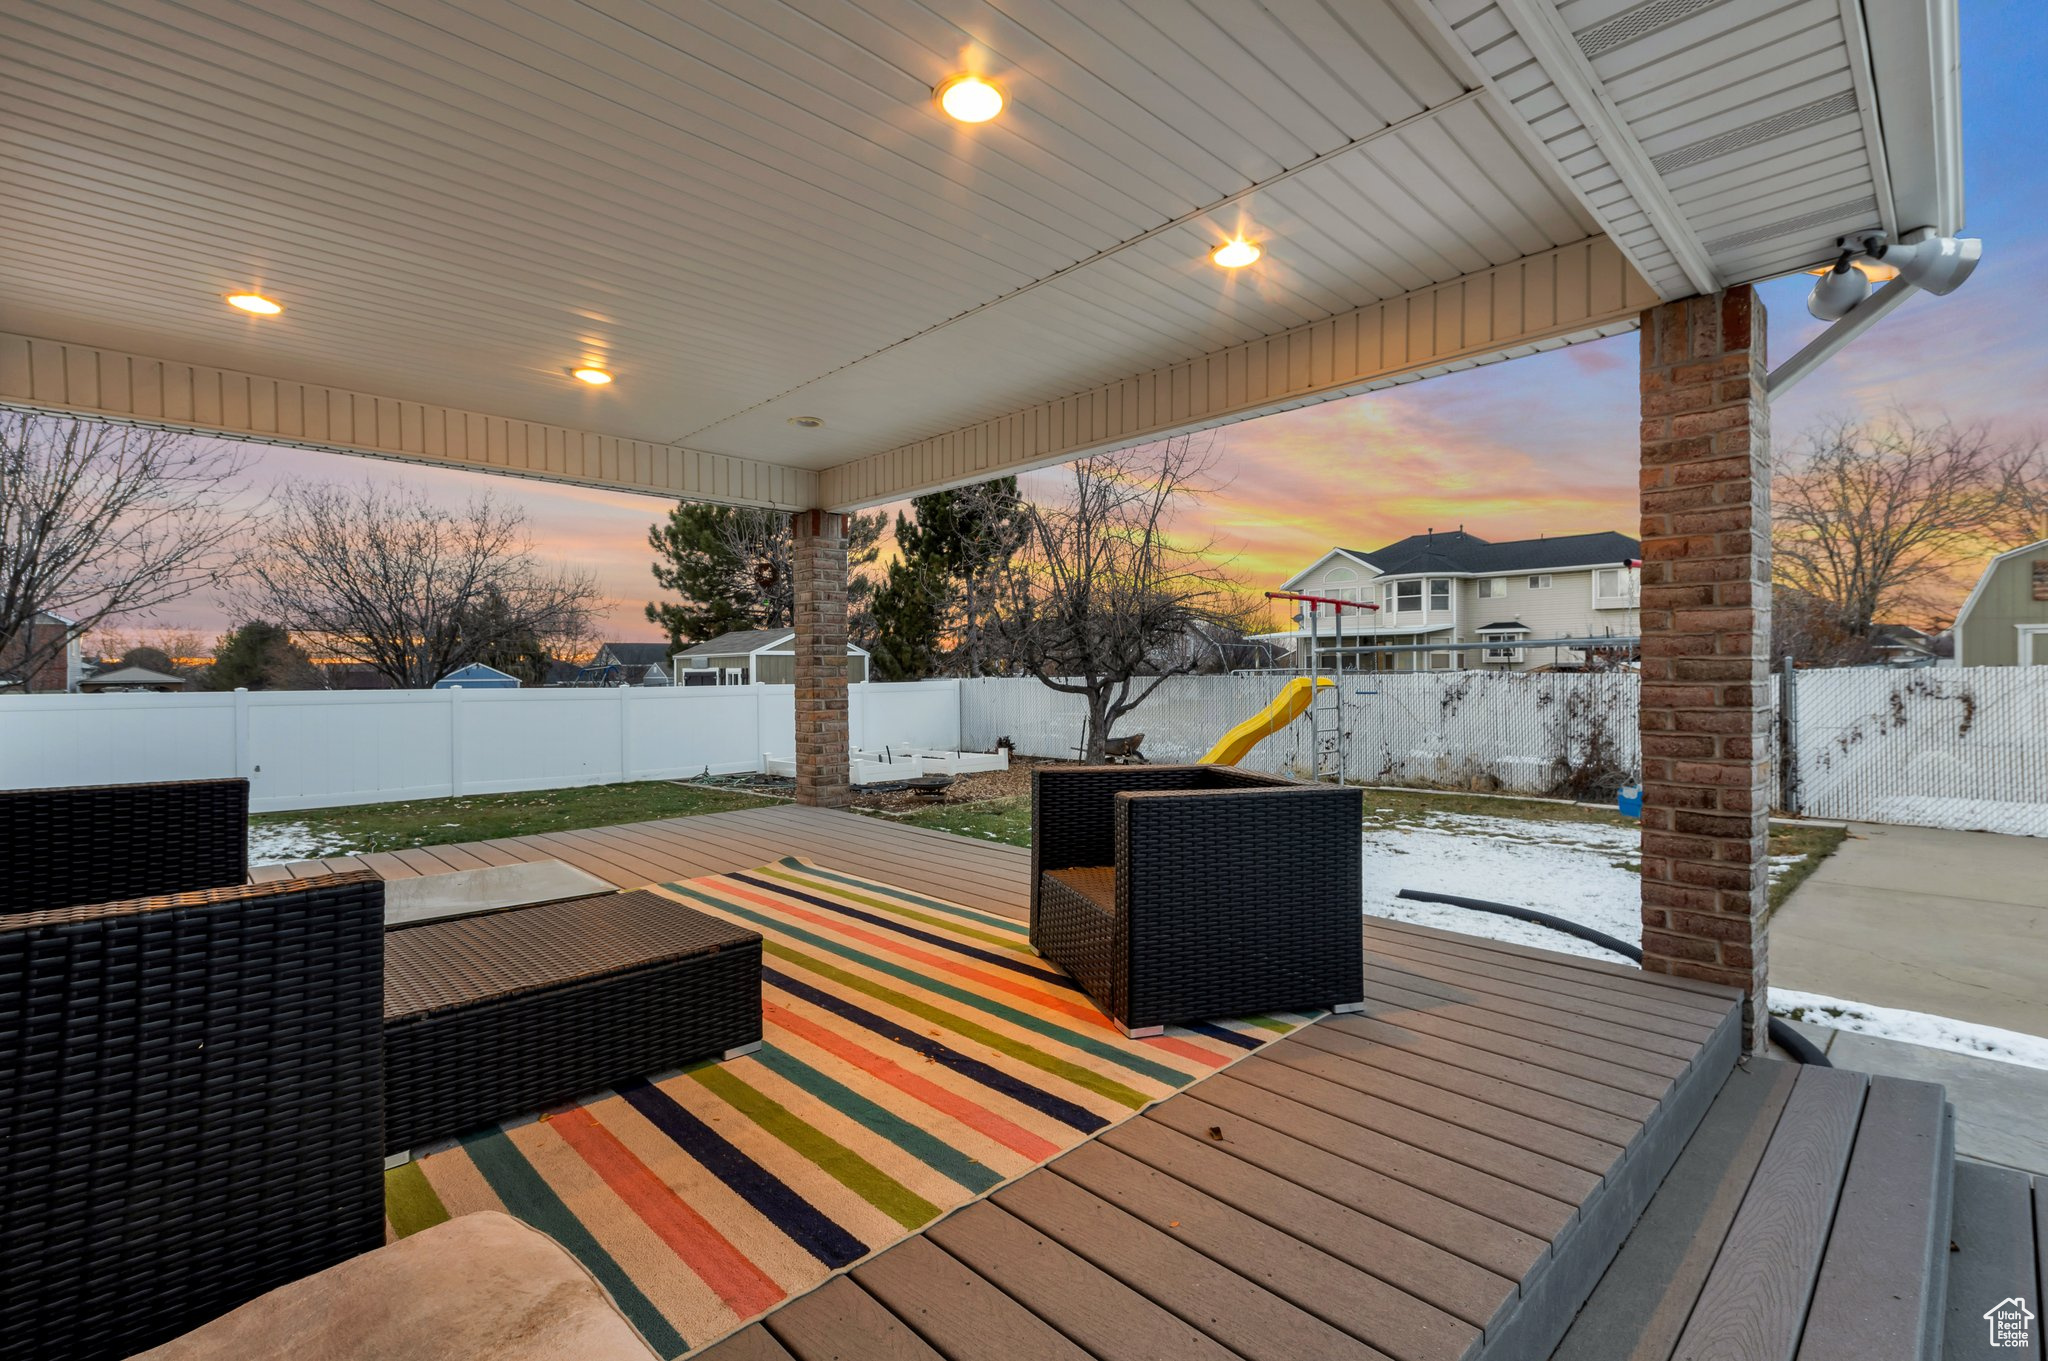
[{"label": "bare spreading tree directly behind the armchair on the rug", "polygon": [[1214,463],[1202,436],[1092,454],[1065,497],[1022,506],[1026,540],[995,630],[1018,671],[1085,696],[1092,761],[1118,718],[1202,665],[1208,651],[1190,632],[1251,616],[1214,542],[1174,534],[1188,501],[1223,489]]}]

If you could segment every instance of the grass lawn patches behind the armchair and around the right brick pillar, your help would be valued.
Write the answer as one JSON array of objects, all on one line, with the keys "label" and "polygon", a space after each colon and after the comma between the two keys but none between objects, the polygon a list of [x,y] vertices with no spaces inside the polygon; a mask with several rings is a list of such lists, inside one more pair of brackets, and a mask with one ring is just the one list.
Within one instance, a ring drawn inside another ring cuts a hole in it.
[{"label": "grass lawn patches behind the armchair and around the right brick pillar", "polygon": [[[1397,833],[1403,829],[1438,827],[1444,819],[1485,817],[1528,823],[1591,823],[1599,827],[1634,827],[1636,821],[1614,808],[1556,804],[1542,798],[1491,798],[1485,794],[1450,794],[1436,790],[1366,790],[1366,831]],[[1030,845],[1030,798],[991,798],[977,804],[920,808],[903,819],[918,827],[950,831],[975,841]],[[1772,907],[1821,868],[1835,853],[1843,833],[1839,827],[1772,827],[1772,855],[1784,870],[1772,880]],[[1796,862],[1782,858],[1798,855]],[[1616,862],[1640,870],[1636,862]]]}]

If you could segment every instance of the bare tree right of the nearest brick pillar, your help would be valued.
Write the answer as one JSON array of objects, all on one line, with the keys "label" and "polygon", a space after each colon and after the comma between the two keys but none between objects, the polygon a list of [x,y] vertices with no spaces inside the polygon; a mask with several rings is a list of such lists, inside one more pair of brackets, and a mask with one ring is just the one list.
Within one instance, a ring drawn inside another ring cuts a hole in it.
[{"label": "bare tree right of the nearest brick pillar", "polygon": [[2005,460],[1982,426],[1905,411],[1808,432],[1772,483],[1778,589],[1849,641],[1884,612],[1937,610],[2007,514]]}]

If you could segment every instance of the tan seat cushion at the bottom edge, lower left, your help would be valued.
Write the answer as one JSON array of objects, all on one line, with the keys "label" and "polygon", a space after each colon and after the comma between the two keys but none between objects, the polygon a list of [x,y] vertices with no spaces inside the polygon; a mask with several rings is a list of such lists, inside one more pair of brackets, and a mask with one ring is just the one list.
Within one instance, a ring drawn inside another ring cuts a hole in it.
[{"label": "tan seat cushion at the bottom edge, lower left", "polygon": [[553,1238],[465,1214],[281,1285],[133,1361],[651,1361]]}]

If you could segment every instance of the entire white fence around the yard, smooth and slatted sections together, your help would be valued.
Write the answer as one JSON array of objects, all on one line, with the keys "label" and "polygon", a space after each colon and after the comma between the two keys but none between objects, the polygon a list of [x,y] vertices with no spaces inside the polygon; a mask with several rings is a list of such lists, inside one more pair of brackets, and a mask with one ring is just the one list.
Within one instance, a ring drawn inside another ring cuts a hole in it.
[{"label": "entire white fence around the yard, smooth and slatted sections together", "polygon": [[[1284,675],[1165,682],[1118,735],[1198,759]],[[854,747],[1073,757],[1079,696],[1028,677],[850,688]],[[1636,677],[1393,673],[1343,684],[1346,778],[1602,796],[1638,774]],[[2048,837],[2048,667],[1800,671],[1788,802],[1823,819]],[[762,770],[795,751],[788,686],[0,698],[0,788],[244,774],[254,808]],[[1309,725],[1245,765],[1309,767]]]}]

